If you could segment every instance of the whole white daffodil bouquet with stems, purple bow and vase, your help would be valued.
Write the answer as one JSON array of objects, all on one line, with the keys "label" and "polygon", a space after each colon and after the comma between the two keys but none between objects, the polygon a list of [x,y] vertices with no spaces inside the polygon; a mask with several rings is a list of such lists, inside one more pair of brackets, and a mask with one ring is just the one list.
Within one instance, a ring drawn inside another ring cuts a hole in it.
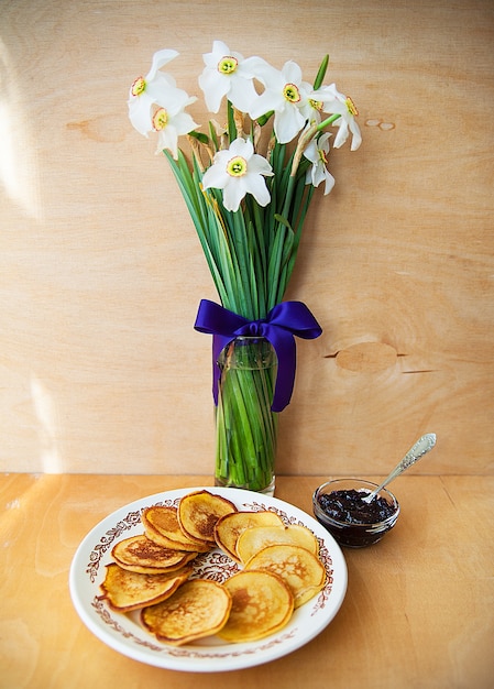
[{"label": "whole white daffodil bouquet with stems, purple bow and vase", "polygon": [[[276,414],[294,384],[294,335],[321,332],[304,304],[283,297],[315,187],[323,184],[329,194],[334,185],[328,130],[336,129],[332,147],[351,133],[356,150],[356,109],[334,84],[322,85],[327,56],[309,84],[294,62],[278,70],[215,41],[199,86],[209,111],[218,113],[226,100],[224,124],[211,120],[207,133],[199,132],[186,112],[196,98],[161,70],[177,55],[154,54],[150,73],[131,86],[129,116],[142,134],[157,133],[221,300],[204,299],[195,325],[213,336],[217,481],[265,490],[274,474]],[[178,146],[180,135],[189,156]],[[275,356],[267,359],[276,365],[263,370],[271,346]]]}]

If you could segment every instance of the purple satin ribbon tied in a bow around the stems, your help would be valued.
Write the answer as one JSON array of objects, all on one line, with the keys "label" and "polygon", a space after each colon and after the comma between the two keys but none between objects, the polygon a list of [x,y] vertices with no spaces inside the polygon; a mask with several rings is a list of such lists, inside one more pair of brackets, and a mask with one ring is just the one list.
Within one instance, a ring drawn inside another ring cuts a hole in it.
[{"label": "purple satin ribbon tied in a bow around the stems", "polygon": [[273,346],[278,359],[278,373],[272,411],[282,412],[292,398],[295,384],[296,346],[294,336],[314,340],[321,327],[301,302],[282,302],[260,320],[248,320],[209,299],[201,299],[194,328],[212,335],[212,395],[218,404],[221,371],[218,358],[237,337],[263,337]]}]

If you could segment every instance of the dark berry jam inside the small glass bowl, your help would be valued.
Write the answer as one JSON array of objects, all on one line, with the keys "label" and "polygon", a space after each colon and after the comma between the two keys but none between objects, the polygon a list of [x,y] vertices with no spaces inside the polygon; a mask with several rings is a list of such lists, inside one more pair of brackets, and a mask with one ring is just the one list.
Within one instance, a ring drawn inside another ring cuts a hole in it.
[{"label": "dark berry jam inside the small glass bowl", "polygon": [[345,524],[377,524],[387,520],[395,512],[393,505],[387,500],[376,495],[374,500],[366,503],[362,500],[369,495],[369,491],[333,491],[319,496],[319,504],[322,511]]}]

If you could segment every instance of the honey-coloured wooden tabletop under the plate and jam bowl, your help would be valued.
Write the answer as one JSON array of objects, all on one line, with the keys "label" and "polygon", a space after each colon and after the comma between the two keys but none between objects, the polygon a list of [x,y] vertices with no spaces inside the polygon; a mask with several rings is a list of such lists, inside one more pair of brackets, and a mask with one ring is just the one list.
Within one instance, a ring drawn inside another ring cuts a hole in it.
[{"label": "honey-coloured wooden tabletop under the plate and jam bowl", "polygon": [[[378,478],[378,477],[371,477]],[[311,514],[323,477],[278,477],[276,496]],[[228,686],[491,689],[494,685],[494,477],[405,475],[402,515],[382,543],[344,549],[349,586],[314,641],[244,670],[189,674],[120,655],[79,620],[68,570],[85,535],[113,510],[198,475],[0,477],[1,689]]]}]

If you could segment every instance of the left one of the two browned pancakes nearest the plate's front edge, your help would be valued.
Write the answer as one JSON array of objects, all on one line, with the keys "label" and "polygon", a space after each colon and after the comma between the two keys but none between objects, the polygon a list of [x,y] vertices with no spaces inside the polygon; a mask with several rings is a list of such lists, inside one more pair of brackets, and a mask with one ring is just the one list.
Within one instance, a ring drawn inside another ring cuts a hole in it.
[{"label": "left one of the two browned pancakes nearest the plate's front edge", "polygon": [[162,603],[144,608],[141,620],[160,641],[179,646],[219,632],[228,620],[231,602],[221,584],[191,579]]}]

